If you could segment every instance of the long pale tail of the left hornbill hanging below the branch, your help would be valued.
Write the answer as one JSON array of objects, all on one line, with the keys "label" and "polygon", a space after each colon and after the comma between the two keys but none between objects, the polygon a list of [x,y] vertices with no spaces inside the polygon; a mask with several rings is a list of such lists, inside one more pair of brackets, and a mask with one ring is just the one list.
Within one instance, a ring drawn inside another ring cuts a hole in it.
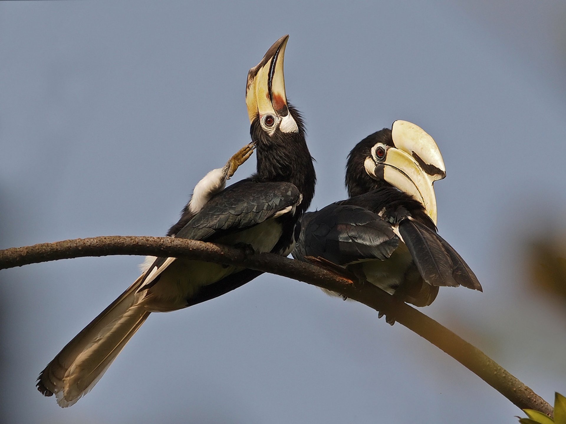
[{"label": "long pale tail of the left hornbill hanging below the branch", "polygon": [[149,316],[136,289],[140,277],[83,328],[37,378],[37,390],[55,394],[59,406],[75,404],[102,377],[131,336]]}]

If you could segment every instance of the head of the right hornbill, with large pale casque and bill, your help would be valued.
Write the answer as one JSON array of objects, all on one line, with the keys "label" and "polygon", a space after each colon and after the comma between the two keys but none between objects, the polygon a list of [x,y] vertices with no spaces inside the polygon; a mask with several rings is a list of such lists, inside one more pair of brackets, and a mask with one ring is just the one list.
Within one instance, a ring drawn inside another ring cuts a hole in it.
[{"label": "head of the right hornbill, with large pale casque and bill", "polygon": [[436,224],[436,197],[432,184],[446,176],[434,139],[421,127],[396,120],[359,142],[348,156],[346,186],[350,196],[388,183],[421,202]]}]

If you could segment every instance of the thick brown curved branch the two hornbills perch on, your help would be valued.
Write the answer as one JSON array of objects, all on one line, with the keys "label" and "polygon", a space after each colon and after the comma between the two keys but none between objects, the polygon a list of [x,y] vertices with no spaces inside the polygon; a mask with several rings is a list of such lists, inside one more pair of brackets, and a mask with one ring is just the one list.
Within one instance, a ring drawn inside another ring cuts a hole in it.
[{"label": "thick brown curved branch the two hornbills perch on", "polygon": [[542,397],[434,319],[409,305],[393,302],[390,295],[372,284],[352,283],[314,265],[275,254],[246,254],[231,246],[171,237],[103,236],[0,250],[0,269],[56,259],[115,254],[186,257],[246,266],[341,293],[377,311],[394,315],[398,323],[448,353],[519,408],[535,409],[552,416],[552,406]]}]

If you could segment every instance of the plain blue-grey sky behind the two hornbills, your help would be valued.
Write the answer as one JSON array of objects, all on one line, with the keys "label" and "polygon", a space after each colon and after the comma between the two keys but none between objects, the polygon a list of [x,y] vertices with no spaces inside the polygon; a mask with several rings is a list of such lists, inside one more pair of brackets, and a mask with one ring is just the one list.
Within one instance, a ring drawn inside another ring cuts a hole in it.
[{"label": "plain blue-grey sky behind the two hornbills", "polygon": [[[353,145],[396,119],[444,155],[439,231],[484,293],[423,311],[547,400],[566,393],[564,312],[526,288],[524,250],[566,233],[561,2],[2,2],[0,248],[163,235],[249,140],[247,71],[289,33],[285,77],[319,183],[345,197]],[[244,178],[252,157],[238,170]],[[548,230],[547,230],[548,229]],[[363,305],[272,275],[152,314],[70,409],[35,389],[137,276],[138,257],[0,271],[6,422],[514,423],[514,405]]]}]

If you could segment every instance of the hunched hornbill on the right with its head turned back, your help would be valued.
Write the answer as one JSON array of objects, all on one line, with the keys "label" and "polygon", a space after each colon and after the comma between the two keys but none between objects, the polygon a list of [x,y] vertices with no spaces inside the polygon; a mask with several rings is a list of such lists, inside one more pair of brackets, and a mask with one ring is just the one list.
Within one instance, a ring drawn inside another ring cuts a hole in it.
[{"label": "hunched hornbill on the right with its head turned back", "polygon": [[303,215],[293,256],[367,280],[402,301],[430,305],[439,286],[482,290],[464,259],[436,232],[432,183],[445,176],[435,141],[396,121],[348,156],[350,198]]}]

